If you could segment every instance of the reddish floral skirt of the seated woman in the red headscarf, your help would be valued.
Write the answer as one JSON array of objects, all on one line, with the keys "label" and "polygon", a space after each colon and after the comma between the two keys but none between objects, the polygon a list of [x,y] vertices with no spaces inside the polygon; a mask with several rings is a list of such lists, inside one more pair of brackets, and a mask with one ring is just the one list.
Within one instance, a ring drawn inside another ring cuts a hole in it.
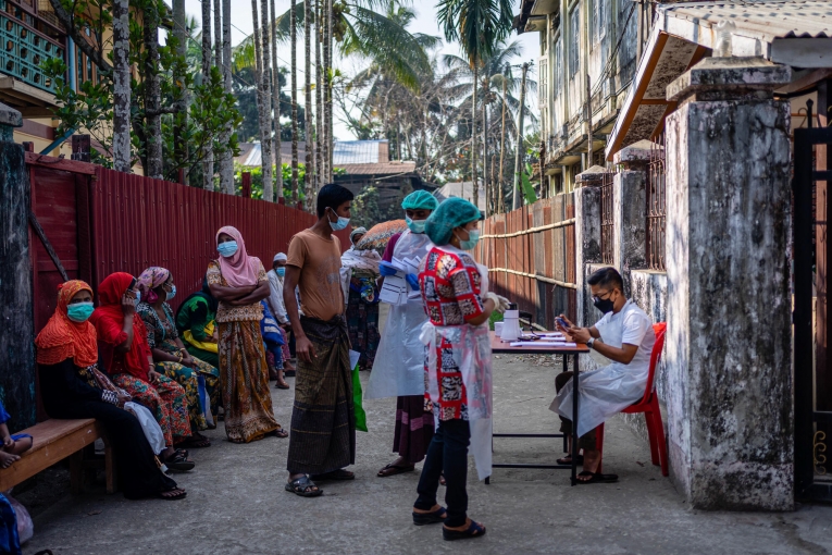
[{"label": "reddish floral skirt of the seated woman in the red headscarf", "polygon": [[159,422],[169,447],[190,437],[188,399],[179,384],[160,375],[154,385],[131,374],[115,374],[113,383],[126,391],[133,400],[147,407]]}]

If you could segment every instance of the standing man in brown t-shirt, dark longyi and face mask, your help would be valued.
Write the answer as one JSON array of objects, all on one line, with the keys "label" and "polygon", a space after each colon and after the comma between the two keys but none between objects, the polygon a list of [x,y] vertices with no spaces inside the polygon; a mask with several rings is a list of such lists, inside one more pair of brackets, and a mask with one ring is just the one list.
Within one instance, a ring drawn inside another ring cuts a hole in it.
[{"label": "standing man in brown t-shirt, dark longyi and face mask", "polygon": [[[286,491],[321,495],[313,480],[353,480],[356,416],[349,368],[349,334],[340,286],[340,240],[349,225],[352,193],[328,184],[318,193],[318,222],[291,237],[283,300],[298,356],[295,405],[286,462]],[[298,314],[295,286],[303,317]]]}]

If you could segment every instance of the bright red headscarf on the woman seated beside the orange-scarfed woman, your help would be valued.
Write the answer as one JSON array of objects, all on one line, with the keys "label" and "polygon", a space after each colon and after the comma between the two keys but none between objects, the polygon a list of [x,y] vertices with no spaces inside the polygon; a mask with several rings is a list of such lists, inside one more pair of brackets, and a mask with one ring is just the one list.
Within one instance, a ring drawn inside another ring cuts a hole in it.
[{"label": "bright red headscarf on the woman seated beside the orange-scarfed woman", "polygon": [[133,319],[133,343],[127,353],[115,353],[114,347],[127,338],[122,331],[124,312],[122,297],[133,283],[133,275],[124,272],[111,273],[98,286],[99,307],[92,312],[90,321],[96,326],[101,341],[101,359],[111,374],[127,372],[140,380],[147,380],[150,347],[147,344],[147,330],[141,318]]}]

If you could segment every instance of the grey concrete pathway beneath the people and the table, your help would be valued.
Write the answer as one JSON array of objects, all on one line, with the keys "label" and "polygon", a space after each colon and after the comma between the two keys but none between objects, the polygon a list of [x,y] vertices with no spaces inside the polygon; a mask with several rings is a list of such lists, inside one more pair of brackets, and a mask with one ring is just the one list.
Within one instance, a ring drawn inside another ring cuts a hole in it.
[{"label": "grey concrete pathway beneath the people and the table", "polygon": [[[555,390],[550,359],[495,360],[496,431],[556,429],[547,407]],[[541,360],[544,360],[542,363]],[[368,375],[362,375],[367,380]],[[291,380],[289,380],[291,381]],[[277,419],[288,424],[293,393],[274,390]],[[376,478],[392,461],[395,399],[367,404],[369,433],[358,433],[355,482],[326,483],[322,497],[284,492],[287,440],[249,445],[208,435],[193,449],[197,468],[177,474],[181,502],[125,501],[103,490],[66,496],[35,519],[25,554],[260,553],[546,553],[546,554],[821,554],[832,552],[832,507],[791,514],[690,510],[649,462],[649,447],[618,419],[608,423],[605,470],[617,484],[571,488],[567,471],[496,469],[490,485],[469,471],[470,515],[485,538],[444,542],[438,526],[415,527],[410,507],[419,473]],[[552,460],[559,440],[500,439],[495,461]],[[442,493],[440,489],[440,493]]]}]

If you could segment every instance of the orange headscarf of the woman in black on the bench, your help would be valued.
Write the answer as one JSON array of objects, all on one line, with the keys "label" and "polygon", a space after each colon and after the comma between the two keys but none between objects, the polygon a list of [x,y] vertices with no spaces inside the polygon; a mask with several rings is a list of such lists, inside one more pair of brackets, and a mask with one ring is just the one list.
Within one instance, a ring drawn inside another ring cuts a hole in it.
[{"label": "orange headscarf of the woman in black on the bench", "polygon": [[71,280],[58,286],[58,306],[37,338],[37,361],[41,365],[57,365],[67,358],[75,366],[87,368],[98,362],[96,329],[89,323],[73,322],[67,316],[72,297],[80,291],[92,288],[80,280]]}]

